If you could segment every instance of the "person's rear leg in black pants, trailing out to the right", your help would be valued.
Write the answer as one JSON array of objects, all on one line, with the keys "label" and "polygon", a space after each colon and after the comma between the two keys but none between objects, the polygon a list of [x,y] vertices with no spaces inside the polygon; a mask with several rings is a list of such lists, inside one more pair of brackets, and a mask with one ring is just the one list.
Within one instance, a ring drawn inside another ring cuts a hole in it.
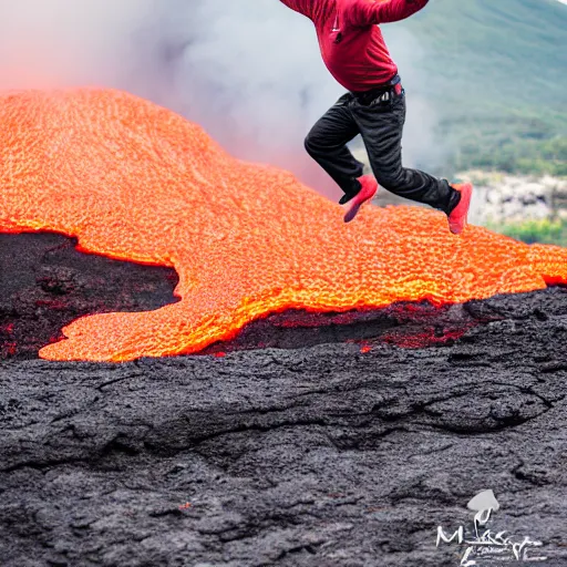
[{"label": "person's rear leg in black pants, trailing out to the right", "polygon": [[405,95],[368,106],[354,101],[351,111],[378,183],[395,195],[424,203],[449,215],[458,204],[458,192],[446,179],[402,166]]}]

